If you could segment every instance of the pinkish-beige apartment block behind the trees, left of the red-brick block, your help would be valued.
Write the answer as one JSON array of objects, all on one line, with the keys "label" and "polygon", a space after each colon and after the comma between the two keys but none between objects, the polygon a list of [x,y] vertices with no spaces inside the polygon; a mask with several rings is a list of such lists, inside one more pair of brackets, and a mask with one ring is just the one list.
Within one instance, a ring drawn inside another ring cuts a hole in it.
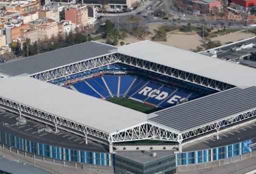
[{"label": "pinkish-beige apartment block behind the trees, left of the red-brick block", "polygon": [[51,18],[38,19],[32,22],[30,26],[38,29],[38,39],[41,40],[58,35],[58,23]]}]

